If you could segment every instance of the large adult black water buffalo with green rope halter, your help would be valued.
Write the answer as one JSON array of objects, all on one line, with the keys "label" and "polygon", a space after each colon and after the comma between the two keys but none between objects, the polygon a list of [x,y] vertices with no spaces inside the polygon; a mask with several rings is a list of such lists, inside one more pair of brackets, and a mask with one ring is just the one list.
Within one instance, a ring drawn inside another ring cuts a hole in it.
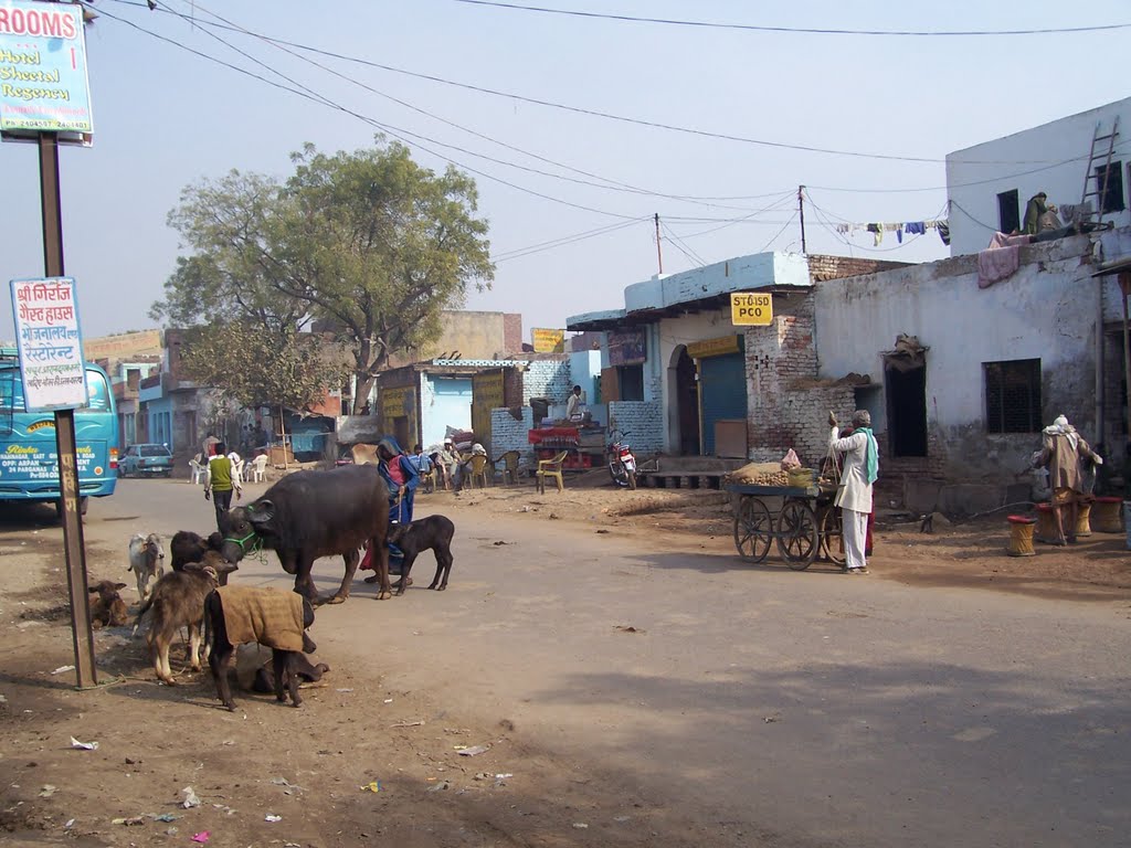
[{"label": "large adult black water buffalo with green rope halter", "polygon": [[294,574],[294,590],[311,603],[322,603],[310,576],[314,560],[340,554],[346,564],[342,588],[325,603],[349,597],[357,548],[369,543],[378,552],[381,600],[392,597],[389,586],[389,493],[375,466],[343,466],[329,471],[287,475],[257,501],[236,507],[221,521],[228,562],[261,546],[278,554],[283,570]]}]

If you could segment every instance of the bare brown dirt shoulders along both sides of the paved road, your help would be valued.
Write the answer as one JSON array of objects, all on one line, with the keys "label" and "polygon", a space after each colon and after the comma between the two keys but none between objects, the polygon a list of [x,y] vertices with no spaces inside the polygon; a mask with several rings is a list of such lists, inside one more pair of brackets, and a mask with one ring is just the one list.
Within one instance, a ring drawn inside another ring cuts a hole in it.
[{"label": "bare brown dirt shoulders along both sides of the paved road", "polygon": [[[573,534],[607,531],[641,551],[733,551],[727,499],[715,492],[571,486],[538,496],[527,486],[424,496],[425,504],[461,526],[521,517],[563,550]],[[1003,520],[933,536],[917,529],[880,531],[869,579],[1076,600],[1125,598],[1131,586],[1120,537],[1011,559],[1001,553]],[[113,577],[103,563],[118,568],[121,555],[89,548],[92,578]],[[756,843],[710,815],[644,797],[623,776],[547,753],[507,715],[473,722],[428,692],[388,691],[346,668],[303,690],[300,710],[241,694],[228,713],[207,675],[158,686],[144,642],[110,631],[96,637],[104,685],[75,692],[72,673],[52,674],[74,661],[57,528],[0,526],[0,833],[10,845],[193,845],[205,832],[214,846]],[[784,565],[771,554],[752,568]],[[98,750],[72,749],[72,736]],[[459,754],[474,745],[491,750]],[[362,788],[370,784],[380,790]],[[201,805],[185,810],[179,802],[190,786]]]}]

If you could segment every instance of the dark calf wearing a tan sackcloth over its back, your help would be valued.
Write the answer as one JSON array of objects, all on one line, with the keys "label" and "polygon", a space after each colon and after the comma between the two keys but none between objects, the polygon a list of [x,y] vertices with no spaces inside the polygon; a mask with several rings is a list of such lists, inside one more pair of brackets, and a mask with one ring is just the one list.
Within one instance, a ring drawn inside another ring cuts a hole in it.
[{"label": "dark calf wearing a tan sackcloth over its back", "polygon": [[216,684],[216,695],[228,710],[235,709],[227,665],[235,646],[258,642],[271,649],[275,699],[299,707],[299,676],[310,666],[302,654],[313,654],[317,646],[307,634],[314,623],[314,607],[295,592],[244,586],[228,586],[211,592],[205,600],[205,626],[208,666]]}]

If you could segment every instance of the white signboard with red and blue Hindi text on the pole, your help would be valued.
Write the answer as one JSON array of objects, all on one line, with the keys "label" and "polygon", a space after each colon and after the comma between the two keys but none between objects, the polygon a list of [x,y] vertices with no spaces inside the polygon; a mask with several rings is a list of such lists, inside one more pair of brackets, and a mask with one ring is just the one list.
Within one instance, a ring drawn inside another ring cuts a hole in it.
[{"label": "white signboard with red and blue Hindi text on the pole", "polygon": [[27,410],[86,406],[86,369],[75,279],[14,279],[11,311]]}]

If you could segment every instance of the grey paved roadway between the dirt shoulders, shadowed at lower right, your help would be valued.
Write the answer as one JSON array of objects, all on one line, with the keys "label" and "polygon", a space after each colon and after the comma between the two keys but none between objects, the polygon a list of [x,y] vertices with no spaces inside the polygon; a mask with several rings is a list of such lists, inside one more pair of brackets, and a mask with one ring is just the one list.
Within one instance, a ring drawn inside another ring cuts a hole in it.
[{"label": "grey paved roadway between the dirt shoulders, shadowed at lower right", "polygon": [[[359,581],[320,612],[321,649],[508,718],[752,843],[1131,839],[1131,604],[751,569],[482,509],[446,510],[458,527],[447,592],[378,603]],[[87,537],[124,551],[135,530],[209,521],[199,487],[131,479],[92,505]],[[426,556],[417,587],[431,573]],[[334,589],[339,562],[316,576]],[[239,578],[287,585],[274,556]]]}]

